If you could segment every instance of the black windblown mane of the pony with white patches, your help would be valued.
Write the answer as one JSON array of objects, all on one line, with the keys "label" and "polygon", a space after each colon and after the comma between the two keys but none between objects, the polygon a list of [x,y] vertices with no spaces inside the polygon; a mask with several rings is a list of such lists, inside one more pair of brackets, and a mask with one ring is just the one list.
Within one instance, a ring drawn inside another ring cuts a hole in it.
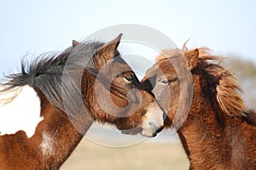
[{"label": "black windblown mane of the pony with white patches", "polygon": [[20,73],[12,74],[7,78],[7,82],[2,83],[3,88],[0,94],[14,92],[15,95],[2,99],[1,102],[8,103],[20,93],[23,86],[39,88],[49,99],[50,103],[57,109],[63,110],[62,96],[66,94],[80,93],[69,74],[80,69],[90,71],[96,75],[96,67],[92,56],[96,50],[102,47],[102,42],[79,43],[79,47],[70,47],[61,54],[43,54],[31,63],[21,61]]}]

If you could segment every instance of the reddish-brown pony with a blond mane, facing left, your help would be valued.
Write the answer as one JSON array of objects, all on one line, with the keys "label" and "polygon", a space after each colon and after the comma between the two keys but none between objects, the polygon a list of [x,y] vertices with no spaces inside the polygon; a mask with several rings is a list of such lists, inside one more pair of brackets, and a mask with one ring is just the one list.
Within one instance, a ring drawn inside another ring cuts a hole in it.
[{"label": "reddish-brown pony with a blond mane, facing left", "polygon": [[163,51],[143,86],[166,111],[165,127],[177,127],[189,169],[256,169],[256,113],[230,71],[207,61],[221,58],[208,48]]}]

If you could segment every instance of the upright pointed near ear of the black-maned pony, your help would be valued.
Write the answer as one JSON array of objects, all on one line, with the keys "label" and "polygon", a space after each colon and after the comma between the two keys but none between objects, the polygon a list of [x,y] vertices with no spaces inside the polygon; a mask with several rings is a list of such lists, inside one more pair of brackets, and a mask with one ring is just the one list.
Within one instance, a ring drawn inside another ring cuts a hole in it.
[{"label": "upright pointed near ear of the black-maned pony", "polygon": [[114,38],[110,42],[105,43],[102,48],[97,50],[95,61],[99,67],[106,65],[108,60],[113,59],[113,57],[116,56],[118,53],[117,48],[122,36],[123,34],[120,33],[118,37]]}]

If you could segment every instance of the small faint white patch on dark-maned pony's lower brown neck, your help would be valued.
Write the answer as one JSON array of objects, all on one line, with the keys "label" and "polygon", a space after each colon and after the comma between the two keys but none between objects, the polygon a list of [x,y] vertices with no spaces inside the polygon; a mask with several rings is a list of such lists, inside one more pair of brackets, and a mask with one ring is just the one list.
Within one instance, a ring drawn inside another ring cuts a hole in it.
[{"label": "small faint white patch on dark-maned pony's lower brown neck", "polygon": [[54,153],[54,139],[49,135],[49,133],[43,133],[43,141],[40,144],[43,156],[50,156]]}]

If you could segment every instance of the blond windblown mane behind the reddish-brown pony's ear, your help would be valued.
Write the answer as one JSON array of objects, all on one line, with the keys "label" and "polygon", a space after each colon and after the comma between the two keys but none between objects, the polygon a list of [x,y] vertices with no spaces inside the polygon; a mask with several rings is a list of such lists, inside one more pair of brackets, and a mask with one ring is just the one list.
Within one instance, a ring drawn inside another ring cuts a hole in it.
[{"label": "blond windblown mane behind the reddish-brown pony's ear", "polygon": [[[198,48],[199,59],[223,59],[218,55],[212,55],[209,48]],[[243,93],[241,85],[230,71],[219,64],[209,64],[205,67],[211,82],[216,85],[217,100],[222,111],[229,116],[245,116],[247,110],[241,97]]]}]

